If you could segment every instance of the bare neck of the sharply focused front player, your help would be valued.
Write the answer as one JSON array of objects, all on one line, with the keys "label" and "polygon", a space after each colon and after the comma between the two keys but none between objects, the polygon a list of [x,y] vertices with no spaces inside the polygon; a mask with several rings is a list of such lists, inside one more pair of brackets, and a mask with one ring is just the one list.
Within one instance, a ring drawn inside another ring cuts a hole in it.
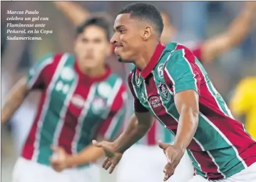
[{"label": "bare neck of the sharply focused front player", "polygon": [[137,60],[135,60],[135,64],[137,68],[140,70],[143,70],[146,65],[148,65],[149,61],[151,60],[151,57],[154,54],[154,50],[156,50],[156,47],[159,42],[154,42],[154,43],[148,43],[148,46],[143,48],[143,52],[141,52],[141,55],[138,57]]}]

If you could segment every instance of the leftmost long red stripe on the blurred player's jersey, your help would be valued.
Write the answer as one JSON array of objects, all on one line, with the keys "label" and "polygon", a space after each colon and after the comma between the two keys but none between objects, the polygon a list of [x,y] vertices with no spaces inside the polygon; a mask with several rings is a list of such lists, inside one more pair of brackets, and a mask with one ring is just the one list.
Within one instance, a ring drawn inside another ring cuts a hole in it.
[{"label": "leftmost long red stripe on the blurred player's jersey", "polygon": [[47,65],[45,69],[42,71],[40,78],[44,79],[44,83],[46,89],[43,91],[42,96],[40,98],[40,102],[37,108],[37,115],[35,117],[35,120],[33,122],[32,128],[30,129],[30,132],[28,134],[28,137],[26,139],[26,142],[23,147],[22,156],[25,159],[32,159],[33,152],[35,151],[35,138],[37,135],[37,128],[38,128],[38,122],[40,119],[40,116],[42,115],[42,108],[44,106],[45,100],[46,100],[46,91],[50,84],[50,81],[52,80],[52,77],[54,76],[55,69],[57,68],[57,65],[59,64],[59,60],[61,60],[62,54],[56,54],[54,55],[54,62],[50,65]]}]

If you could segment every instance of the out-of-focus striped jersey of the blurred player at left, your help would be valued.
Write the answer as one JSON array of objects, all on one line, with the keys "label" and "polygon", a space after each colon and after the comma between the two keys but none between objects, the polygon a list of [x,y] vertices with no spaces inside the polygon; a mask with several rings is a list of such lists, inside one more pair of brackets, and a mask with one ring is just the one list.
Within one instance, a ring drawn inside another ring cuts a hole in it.
[{"label": "out-of-focus striped jersey of the blurred player at left", "polygon": [[77,154],[100,135],[114,139],[125,117],[124,82],[110,69],[91,78],[71,54],[48,55],[28,72],[30,89],[42,96],[22,156],[50,165],[51,145]]}]

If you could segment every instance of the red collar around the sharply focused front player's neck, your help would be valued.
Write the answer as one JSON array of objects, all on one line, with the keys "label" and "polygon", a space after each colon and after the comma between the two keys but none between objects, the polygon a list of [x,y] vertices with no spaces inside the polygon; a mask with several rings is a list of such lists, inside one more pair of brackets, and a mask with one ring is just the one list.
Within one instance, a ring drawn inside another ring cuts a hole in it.
[{"label": "red collar around the sharply focused front player's neck", "polygon": [[[149,76],[151,71],[153,71],[153,69],[156,66],[156,64],[158,63],[158,60],[160,59],[160,56],[161,56],[161,54],[162,54],[164,49],[165,49],[165,45],[163,45],[161,43],[158,43],[158,45],[156,46],[156,49],[154,50],[153,56],[149,60],[149,62],[146,65],[146,67],[144,67],[144,69],[141,71],[141,76],[144,79],[146,79],[146,77]],[[136,71],[140,72],[139,69],[137,69],[137,68],[136,68]]]}]

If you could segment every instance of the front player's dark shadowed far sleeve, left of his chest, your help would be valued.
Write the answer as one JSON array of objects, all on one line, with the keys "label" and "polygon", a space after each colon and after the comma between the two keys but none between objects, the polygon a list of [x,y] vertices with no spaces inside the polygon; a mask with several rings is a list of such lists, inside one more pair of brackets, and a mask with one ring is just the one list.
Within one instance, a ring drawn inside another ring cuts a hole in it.
[{"label": "front player's dark shadowed far sleeve, left of his chest", "polygon": [[134,91],[134,87],[132,85],[132,76],[134,74],[134,70],[130,72],[129,76],[128,76],[128,85],[130,88],[130,91],[132,93],[132,96],[134,98],[134,111],[138,112],[138,113],[145,113],[148,112],[148,110],[141,104],[141,102],[139,101],[139,99],[137,98],[137,94]]}]

